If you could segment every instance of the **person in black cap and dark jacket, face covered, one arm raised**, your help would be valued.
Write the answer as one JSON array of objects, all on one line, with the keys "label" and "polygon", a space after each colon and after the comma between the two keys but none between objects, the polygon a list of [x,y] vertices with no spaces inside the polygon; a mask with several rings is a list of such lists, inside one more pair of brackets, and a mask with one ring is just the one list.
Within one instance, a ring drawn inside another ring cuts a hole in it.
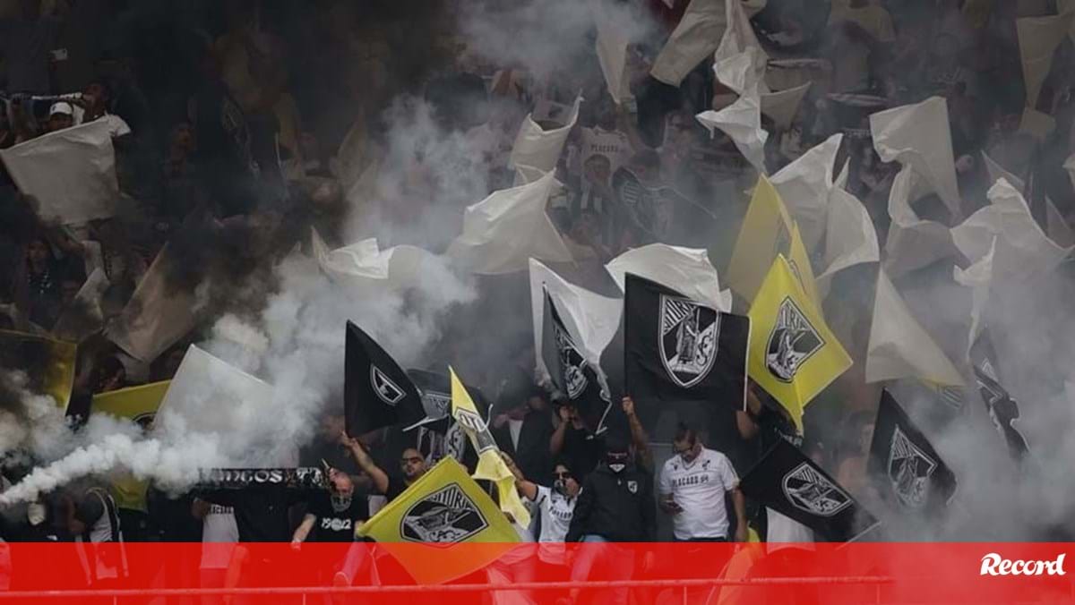
[{"label": "person in black cap and dark jacket, face covered, one arm raised", "polygon": [[[605,438],[604,460],[586,476],[564,542],[589,543],[577,551],[571,564],[572,581],[588,578],[600,564],[610,580],[629,579],[634,573],[634,552],[601,543],[654,542],[657,532],[653,479],[632,459],[627,441],[618,435]],[[643,568],[653,565],[646,556]],[[627,589],[610,592],[611,602],[626,604]],[[578,590],[573,589],[570,602]]]}]

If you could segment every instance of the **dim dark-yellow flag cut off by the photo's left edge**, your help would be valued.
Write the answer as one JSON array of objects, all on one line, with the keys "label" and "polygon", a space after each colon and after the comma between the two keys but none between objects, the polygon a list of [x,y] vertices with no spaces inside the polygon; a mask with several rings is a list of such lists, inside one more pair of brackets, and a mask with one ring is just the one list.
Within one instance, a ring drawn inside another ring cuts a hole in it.
[{"label": "dim dark-yellow flag cut off by the photo's left edge", "polygon": [[77,349],[74,343],[0,330],[2,365],[25,370],[30,392],[52,397],[63,409],[71,402]]}]

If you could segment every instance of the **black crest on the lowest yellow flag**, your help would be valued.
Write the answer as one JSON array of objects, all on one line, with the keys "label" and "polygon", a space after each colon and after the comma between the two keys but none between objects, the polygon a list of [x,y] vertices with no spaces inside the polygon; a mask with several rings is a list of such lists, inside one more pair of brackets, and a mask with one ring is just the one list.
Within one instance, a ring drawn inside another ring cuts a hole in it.
[{"label": "black crest on the lowest yellow flag", "polygon": [[449,484],[414,503],[400,519],[408,542],[455,544],[489,527],[477,504],[458,484]]}]

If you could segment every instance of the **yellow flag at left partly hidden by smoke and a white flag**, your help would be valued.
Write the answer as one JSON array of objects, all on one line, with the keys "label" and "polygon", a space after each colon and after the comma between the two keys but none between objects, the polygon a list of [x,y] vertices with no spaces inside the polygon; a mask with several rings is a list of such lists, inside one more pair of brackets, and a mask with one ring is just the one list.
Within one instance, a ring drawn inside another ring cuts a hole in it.
[{"label": "yellow flag at left partly hidden by smoke and a white flag", "polygon": [[[157,408],[168,392],[169,384],[171,380],[162,380],[96,394],[90,413],[127,418],[147,429],[157,415]],[[145,491],[148,486],[149,481],[137,479],[131,473],[118,473],[112,477],[109,487],[116,506],[145,513],[147,512]]]}]

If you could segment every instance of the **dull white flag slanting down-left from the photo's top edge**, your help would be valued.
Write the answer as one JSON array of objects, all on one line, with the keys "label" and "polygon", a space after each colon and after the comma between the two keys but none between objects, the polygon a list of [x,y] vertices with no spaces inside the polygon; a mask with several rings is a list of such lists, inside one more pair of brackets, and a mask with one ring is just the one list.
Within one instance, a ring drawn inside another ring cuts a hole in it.
[{"label": "dull white flag slanting down-left from the photo's top edge", "polygon": [[678,88],[683,78],[720,44],[728,27],[725,2],[690,0],[683,18],[654,60],[649,75]]}]

